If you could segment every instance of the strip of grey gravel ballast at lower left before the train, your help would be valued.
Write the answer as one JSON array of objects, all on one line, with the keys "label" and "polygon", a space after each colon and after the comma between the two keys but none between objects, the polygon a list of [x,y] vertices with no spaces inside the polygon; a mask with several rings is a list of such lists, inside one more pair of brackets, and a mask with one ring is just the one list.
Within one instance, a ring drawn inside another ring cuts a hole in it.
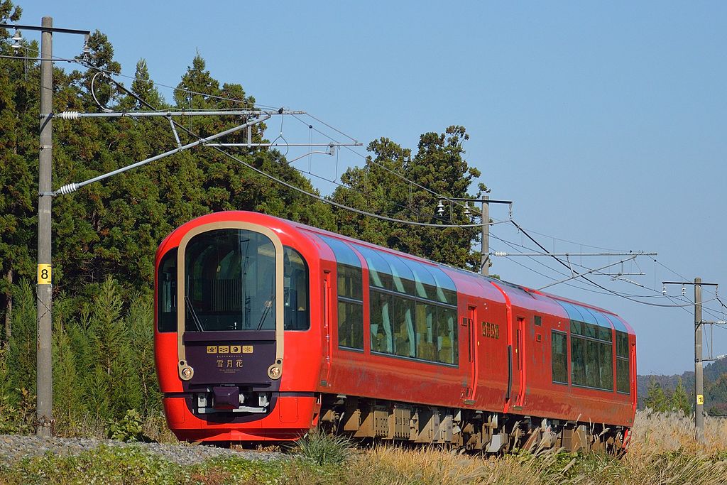
[{"label": "strip of grey gravel ballast at lower left before the train", "polygon": [[280,460],[285,457],[279,452],[257,452],[190,444],[124,443],[124,441],[93,438],[0,435],[0,462],[11,463],[27,457],[43,456],[48,452],[59,455],[79,454],[101,445],[134,447],[143,452],[160,455],[164,460],[180,465],[195,465],[216,457],[239,457],[245,460],[262,461]]}]

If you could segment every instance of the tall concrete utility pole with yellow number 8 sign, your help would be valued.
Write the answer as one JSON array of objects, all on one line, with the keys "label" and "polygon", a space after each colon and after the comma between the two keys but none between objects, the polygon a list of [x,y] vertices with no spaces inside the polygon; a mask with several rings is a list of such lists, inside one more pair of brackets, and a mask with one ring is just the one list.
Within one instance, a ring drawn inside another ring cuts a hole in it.
[{"label": "tall concrete utility pole with yellow number 8 sign", "polygon": [[38,309],[36,417],[38,436],[50,436],[53,421],[51,205],[53,166],[53,28],[52,17],[43,17],[41,33],[41,118],[38,164]]}]

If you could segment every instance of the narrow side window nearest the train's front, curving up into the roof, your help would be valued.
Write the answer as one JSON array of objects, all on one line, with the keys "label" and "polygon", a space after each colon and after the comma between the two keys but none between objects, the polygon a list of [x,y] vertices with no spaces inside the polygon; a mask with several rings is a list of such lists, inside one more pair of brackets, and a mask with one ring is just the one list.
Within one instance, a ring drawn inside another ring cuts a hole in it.
[{"label": "narrow side window nearest the train's front, curving up into the roof", "polygon": [[328,244],[336,257],[338,345],[364,350],[364,275],[361,262],[345,242],[320,234],[318,237]]}]

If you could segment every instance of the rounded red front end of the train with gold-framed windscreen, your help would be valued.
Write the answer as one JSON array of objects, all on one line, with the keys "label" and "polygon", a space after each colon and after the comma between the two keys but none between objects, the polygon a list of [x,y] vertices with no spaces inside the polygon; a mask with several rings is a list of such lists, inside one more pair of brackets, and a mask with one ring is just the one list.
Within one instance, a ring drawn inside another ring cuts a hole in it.
[{"label": "rounded red front end of the train with gold-framed windscreen", "polygon": [[318,261],[295,236],[273,217],[220,212],[159,246],[154,345],[177,438],[278,441],[310,429],[321,344],[310,331],[320,295],[310,294],[309,274]]}]

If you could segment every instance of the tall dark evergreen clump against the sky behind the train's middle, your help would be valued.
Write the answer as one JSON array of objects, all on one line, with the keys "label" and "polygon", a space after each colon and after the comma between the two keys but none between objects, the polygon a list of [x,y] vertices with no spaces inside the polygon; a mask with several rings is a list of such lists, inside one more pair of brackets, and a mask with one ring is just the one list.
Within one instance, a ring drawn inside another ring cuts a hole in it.
[{"label": "tall dark evergreen clump against the sky behind the train's middle", "polygon": [[[435,211],[438,198],[423,189],[429,188],[445,197],[475,197],[486,191],[479,185],[470,194],[470,185],[480,172],[464,159],[463,143],[467,140],[464,127],[451,126],[446,132],[425,133],[419,138],[417,153],[401,148],[387,138],[369,143],[372,153],[363,168],[348,169],[341,177],[347,187],[334,191],[332,199],[368,212],[402,220],[425,223],[472,224],[464,208],[446,208],[443,217]],[[417,185],[406,183],[398,172]],[[460,268],[479,269],[480,254],[472,250],[478,241],[480,228],[431,228],[403,225],[335,209],[338,231],[347,236],[364,239],[410,254],[444,262]]]}]

